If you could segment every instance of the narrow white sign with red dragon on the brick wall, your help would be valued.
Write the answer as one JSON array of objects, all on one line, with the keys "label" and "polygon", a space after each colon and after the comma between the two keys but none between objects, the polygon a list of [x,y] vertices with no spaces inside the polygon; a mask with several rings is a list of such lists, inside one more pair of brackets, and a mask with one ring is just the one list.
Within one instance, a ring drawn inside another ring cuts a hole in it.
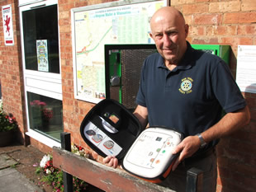
[{"label": "narrow white sign with red dragon on the brick wall", "polygon": [[13,45],[12,5],[2,7],[2,24],[5,45]]}]

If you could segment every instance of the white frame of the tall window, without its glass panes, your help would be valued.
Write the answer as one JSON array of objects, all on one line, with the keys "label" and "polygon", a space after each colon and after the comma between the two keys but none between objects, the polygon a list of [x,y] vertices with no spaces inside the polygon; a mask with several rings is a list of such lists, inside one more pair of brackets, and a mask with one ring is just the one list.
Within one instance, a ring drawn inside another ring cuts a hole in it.
[{"label": "white frame of the tall window, without its glass panes", "polygon": [[[58,0],[20,0],[19,1],[19,14],[20,14],[20,29],[21,29],[21,54],[22,54],[22,68],[24,77],[25,101],[27,106],[27,91],[39,94],[41,96],[48,96],[62,101],[62,82],[61,82],[61,64],[59,59],[59,74],[56,73],[43,73],[34,70],[28,70],[25,67],[25,53],[24,53],[24,40],[23,40],[23,21],[22,12],[32,10],[37,7],[47,7],[50,5],[58,5]],[[59,12],[58,12],[59,14]],[[58,25],[59,28],[59,25]],[[60,55],[60,49],[59,49]],[[38,87],[40,85],[40,87]],[[28,109],[26,107],[26,120],[29,122]],[[50,148],[56,146],[60,147],[60,143],[52,138],[38,133],[30,128],[27,124],[28,132],[26,135],[44,143]]]}]

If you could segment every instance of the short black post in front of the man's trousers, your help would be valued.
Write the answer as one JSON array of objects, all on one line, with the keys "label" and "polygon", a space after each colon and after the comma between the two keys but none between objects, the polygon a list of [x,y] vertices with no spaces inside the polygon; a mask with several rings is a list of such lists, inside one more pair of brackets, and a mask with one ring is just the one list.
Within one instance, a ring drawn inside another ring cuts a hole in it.
[{"label": "short black post in front of the man's trousers", "polygon": [[187,171],[186,192],[201,192],[202,191],[202,171],[192,167]]}]

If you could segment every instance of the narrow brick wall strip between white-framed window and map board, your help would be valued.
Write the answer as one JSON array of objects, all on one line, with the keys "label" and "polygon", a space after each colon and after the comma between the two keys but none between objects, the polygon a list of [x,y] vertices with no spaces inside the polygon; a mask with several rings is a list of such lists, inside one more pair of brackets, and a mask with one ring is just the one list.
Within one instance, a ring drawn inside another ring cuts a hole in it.
[{"label": "narrow brick wall strip between white-framed window and map board", "polygon": [[[84,7],[103,2],[106,0],[93,1],[68,1],[59,0],[59,39],[60,39],[60,62],[62,73],[63,91],[63,117],[64,131],[71,133],[72,142],[87,148],[80,135],[80,124],[84,116],[94,104],[78,101],[73,96],[73,55],[72,55],[72,31],[71,31],[71,12],[74,7]],[[88,150],[92,157],[97,160],[102,158],[97,156],[92,150]]]}]

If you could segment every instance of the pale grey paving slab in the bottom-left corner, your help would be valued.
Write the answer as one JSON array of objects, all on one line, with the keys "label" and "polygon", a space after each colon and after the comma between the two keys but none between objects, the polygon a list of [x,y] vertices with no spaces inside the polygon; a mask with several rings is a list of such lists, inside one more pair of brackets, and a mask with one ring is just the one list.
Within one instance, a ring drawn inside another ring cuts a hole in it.
[{"label": "pale grey paving slab in the bottom-left corner", "polygon": [[0,170],[1,192],[43,192],[38,186],[23,176],[15,168],[9,167]]}]

